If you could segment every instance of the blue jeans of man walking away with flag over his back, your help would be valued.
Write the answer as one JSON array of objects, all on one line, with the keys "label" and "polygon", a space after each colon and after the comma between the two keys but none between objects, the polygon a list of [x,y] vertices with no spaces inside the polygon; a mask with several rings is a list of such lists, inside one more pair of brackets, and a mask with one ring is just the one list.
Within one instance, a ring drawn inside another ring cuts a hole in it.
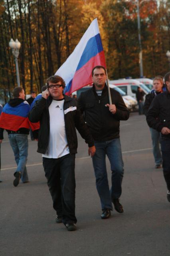
[{"label": "blue jeans of man walking away with flag over his back", "polygon": [[8,138],[17,164],[16,171],[21,172],[21,180],[22,182],[26,182],[28,181],[28,173],[26,169],[26,161],[28,156],[28,135],[12,133],[8,135]]}]

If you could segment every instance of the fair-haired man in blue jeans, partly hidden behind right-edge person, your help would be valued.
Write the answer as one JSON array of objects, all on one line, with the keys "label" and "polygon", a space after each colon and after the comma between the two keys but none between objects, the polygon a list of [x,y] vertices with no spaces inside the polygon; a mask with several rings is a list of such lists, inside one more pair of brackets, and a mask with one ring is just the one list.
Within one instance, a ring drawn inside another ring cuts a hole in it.
[{"label": "fair-haired man in blue jeans, partly hidden behind right-edge person", "polygon": [[[153,90],[146,95],[143,112],[144,115],[147,115],[150,104],[152,103],[154,97],[160,93],[162,93],[163,87],[163,79],[161,77],[155,77],[153,80]],[[160,152],[160,132],[150,127],[150,133],[152,136],[152,147],[153,147],[153,155],[155,160],[155,168],[161,168],[162,165],[162,155]]]}]

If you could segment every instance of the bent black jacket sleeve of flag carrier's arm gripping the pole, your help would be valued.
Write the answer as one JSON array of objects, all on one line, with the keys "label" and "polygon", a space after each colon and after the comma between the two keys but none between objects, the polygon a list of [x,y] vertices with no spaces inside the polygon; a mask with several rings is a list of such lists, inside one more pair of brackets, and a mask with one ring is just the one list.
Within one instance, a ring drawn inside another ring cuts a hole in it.
[{"label": "bent black jacket sleeve of flag carrier's arm gripping the pole", "polygon": [[115,103],[116,113],[114,115],[114,118],[116,118],[117,120],[127,120],[129,118],[129,111],[125,106],[125,103],[120,93],[118,94],[117,97],[118,99],[117,99],[117,103]]}]

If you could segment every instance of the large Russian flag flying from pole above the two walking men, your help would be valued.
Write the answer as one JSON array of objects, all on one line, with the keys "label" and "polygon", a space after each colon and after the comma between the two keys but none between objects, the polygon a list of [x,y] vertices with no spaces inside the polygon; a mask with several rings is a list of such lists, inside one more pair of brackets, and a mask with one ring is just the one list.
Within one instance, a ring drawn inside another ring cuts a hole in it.
[{"label": "large Russian flag flying from pole above the two walking men", "polygon": [[97,65],[106,67],[96,18],[91,22],[72,54],[55,73],[65,81],[64,93],[70,95],[81,87],[93,83],[91,71]]}]

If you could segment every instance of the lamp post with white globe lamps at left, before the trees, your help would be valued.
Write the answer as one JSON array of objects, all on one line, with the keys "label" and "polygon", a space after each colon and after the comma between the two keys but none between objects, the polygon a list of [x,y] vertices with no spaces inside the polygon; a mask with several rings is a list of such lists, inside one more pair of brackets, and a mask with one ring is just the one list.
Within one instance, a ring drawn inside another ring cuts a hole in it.
[{"label": "lamp post with white globe lamps at left, before the trees", "polygon": [[20,54],[19,49],[21,47],[21,43],[16,39],[15,41],[11,38],[9,42],[10,48],[12,48],[12,54],[15,57],[15,65],[16,65],[16,79],[18,87],[20,87],[20,74],[19,74],[19,68],[18,68],[18,56]]}]

